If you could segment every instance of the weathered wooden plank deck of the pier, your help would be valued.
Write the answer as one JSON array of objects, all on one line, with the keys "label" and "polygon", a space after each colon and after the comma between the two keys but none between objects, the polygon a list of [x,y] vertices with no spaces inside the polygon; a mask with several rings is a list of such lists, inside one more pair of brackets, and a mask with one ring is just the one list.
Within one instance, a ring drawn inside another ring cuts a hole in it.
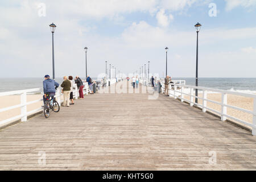
[{"label": "weathered wooden plank deck of the pier", "polygon": [[48,119],[39,114],[0,130],[0,170],[256,169],[249,131],[173,98],[147,96],[89,95]]}]

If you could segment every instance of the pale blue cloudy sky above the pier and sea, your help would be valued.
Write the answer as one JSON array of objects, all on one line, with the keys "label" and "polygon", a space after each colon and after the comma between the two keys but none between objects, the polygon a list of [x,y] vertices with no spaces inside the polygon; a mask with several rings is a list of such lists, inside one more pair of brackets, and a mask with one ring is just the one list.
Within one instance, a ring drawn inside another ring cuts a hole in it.
[{"label": "pale blue cloudy sky above the pier and sea", "polygon": [[[85,77],[117,72],[195,77],[256,77],[256,0],[0,1],[0,77]],[[165,74],[165,73],[164,73]]]}]

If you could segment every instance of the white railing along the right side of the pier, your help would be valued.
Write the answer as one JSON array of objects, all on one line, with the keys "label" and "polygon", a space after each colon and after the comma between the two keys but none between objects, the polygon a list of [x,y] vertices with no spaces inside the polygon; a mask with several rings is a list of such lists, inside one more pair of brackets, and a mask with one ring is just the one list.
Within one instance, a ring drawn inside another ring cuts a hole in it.
[{"label": "white railing along the right side of the pier", "polygon": [[[211,88],[204,88],[199,86],[190,86],[190,85],[181,85],[181,84],[172,84],[173,86],[169,87],[169,95],[170,97],[179,98],[181,102],[187,101],[190,106],[199,106],[203,110],[203,112],[210,111],[212,113],[217,113],[221,116],[221,121],[226,121],[227,118],[233,119],[234,121],[237,121],[238,123],[242,123],[243,125],[249,126],[252,128],[252,134],[256,135],[256,95],[255,94],[247,94],[247,93],[240,93],[240,92],[232,92],[232,91],[226,91],[226,90],[219,90],[219,89],[211,89]],[[203,92],[203,96],[195,96],[195,90],[201,90]],[[212,101],[207,98],[207,92],[214,92],[221,94],[221,102]],[[228,94],[232,94],[235,96],[243,96],[243,97],[250,97],[254,100],[254,106],[253,111],[242,109],[237,106],[228,105]],[[185,99],[184,96],[188,96],[189,100]],[[202,100],[202,104],[197,104],[195,102],[195,98],[198,100]],[[221,111],[214,110],[207,106],[207,102],[212,102],[214,104],[221,106]],[[227,114],[227,108],[235,109],[238,111],[242,111],[244,113],[249,113],[253,115],[253,123],[249,123],[246,121],[243,121],[242,119],[238,119],[236,117],[233,117],[232,115]]]}]

